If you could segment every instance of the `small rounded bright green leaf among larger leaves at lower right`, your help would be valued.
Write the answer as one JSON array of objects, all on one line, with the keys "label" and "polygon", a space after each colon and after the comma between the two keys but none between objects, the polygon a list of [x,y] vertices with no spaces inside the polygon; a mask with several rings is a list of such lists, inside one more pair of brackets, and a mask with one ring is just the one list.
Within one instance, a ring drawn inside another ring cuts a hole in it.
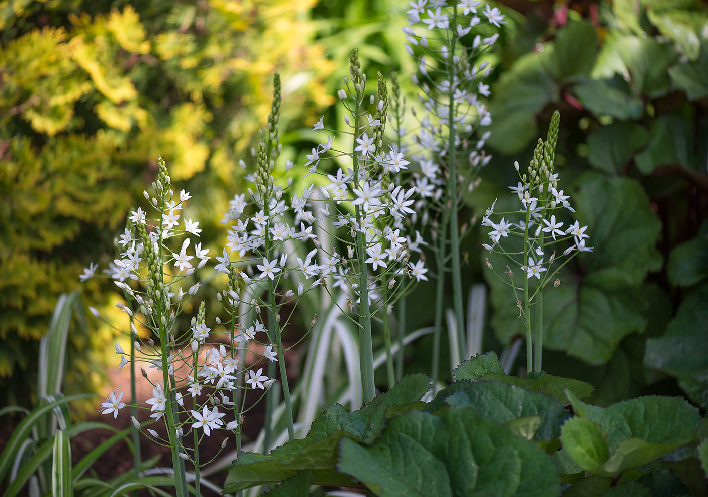
[{"label": "small rounded bright green leaf among larger leaves at lower right", "polygon": [[600,426],[587,418],[572,418],[561,428],[564,450],[583,469],[594,469],[610,457]]}]

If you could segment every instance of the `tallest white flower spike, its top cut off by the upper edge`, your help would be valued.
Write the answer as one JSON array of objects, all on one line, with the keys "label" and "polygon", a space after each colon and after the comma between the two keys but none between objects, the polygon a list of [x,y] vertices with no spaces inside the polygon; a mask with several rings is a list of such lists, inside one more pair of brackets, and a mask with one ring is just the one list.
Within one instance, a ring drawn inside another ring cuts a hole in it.
[{"label": "tallest white flower spike, its top cut off by the upper edge", "polygon": [[[480,97],[489,97],[489,86],[484,78],[491,66],[474,65],[474,59],[489,49],[498,35],[482,39],[470,34],[481,23],[476,6],[481,2],[457,2],[426,9],[426,2],[411,2],[410,27],[404,28],[406,49],[418,57],[418,72],[413,81],[421,88],[419,100],[425,108],[419,119],[421,130],[416,142],[421,153],[414,154],[421,164],[421,175],[416,179],[421,197],[428,197],[428,209],[435,220],[433,238],[435,259],[438,263],[436,300],[445,290],[446,273],[451,273],[452,302],[455,314],[455,332],[460,351],[467,349],[464,334],[462,267],[460,240],[464,236],[458,220],[462,192],[471,192],[476,185],[479,168],[491,156],[481,151],[489,132],[484,133],[472,152],[465,151],[476,129],[489,126],[491,117]],[[458,9],[464,9],[460,12]],[[493,16],[485,13],[487,21],[499,28],[503,16],[497,9]],[[425,26],[422,30],[420,25]],[[414,29],[416,28],[416,29]],[[468,155],[469,154],[469,155]],[[464,160],[467,159],[467,160]],[[440,193],[437,193],[440,192]],[[428,214],[426,213],[425,216]],[[425,219],[425,216],[423,217]],[[435,339],[433,353],[440,351],[442,308],[435,310]],[[438,378],[439,358],[433,357],[433,379]]]}]

